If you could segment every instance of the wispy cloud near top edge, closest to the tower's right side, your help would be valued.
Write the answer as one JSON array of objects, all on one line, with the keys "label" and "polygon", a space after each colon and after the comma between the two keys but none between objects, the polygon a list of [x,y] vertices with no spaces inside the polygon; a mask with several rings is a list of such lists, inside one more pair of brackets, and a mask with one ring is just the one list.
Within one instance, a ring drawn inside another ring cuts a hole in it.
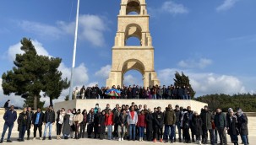
[{"label": "wispy cloud near top edge, closest to the tower's right side", "polygon": [[188,8],[184,7],[182,4],[174,3],[172,1],[167,1],[161,6],[161,12],[171,13],[171,14],[182,14],[188,13]]}]

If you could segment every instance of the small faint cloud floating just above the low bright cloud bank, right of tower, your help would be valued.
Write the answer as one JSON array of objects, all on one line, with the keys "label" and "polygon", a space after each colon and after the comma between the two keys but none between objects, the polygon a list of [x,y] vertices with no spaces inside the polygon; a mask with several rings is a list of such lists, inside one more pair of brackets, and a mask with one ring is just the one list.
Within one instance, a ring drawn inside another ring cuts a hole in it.
[{"label": "small faint cloud floating just above the low bright cloud bank, right of tower", "polygon": [[185,61],[178,62],[177,65],[179,67],[184,67],[184,68],[204,68],[208,67],[209,65],[212,64],[212,60],[207,59],[207,58],[201,58],[199,61],[195,61],[193,59],[188,59]]}]

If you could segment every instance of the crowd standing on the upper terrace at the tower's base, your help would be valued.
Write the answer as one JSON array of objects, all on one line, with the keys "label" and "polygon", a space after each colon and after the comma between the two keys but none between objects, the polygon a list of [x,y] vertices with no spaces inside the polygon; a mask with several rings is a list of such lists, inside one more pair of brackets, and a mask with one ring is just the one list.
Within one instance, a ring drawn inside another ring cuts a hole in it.
[{"label": "crowd standing on the upper terrace at the tower's base", "polygon": [[73,99],[191,99],[191,90],[188,86],[166,85],[139,87],[139,85],[129,85],[120,87],[119,85],[112,86],[112,89],[117,89],[121,92],[119,96],[110,96],[106,94],[108,87],[101,87],[96,84],[93,87],[83,86],[81,89],[76,87],[73,93]]}]

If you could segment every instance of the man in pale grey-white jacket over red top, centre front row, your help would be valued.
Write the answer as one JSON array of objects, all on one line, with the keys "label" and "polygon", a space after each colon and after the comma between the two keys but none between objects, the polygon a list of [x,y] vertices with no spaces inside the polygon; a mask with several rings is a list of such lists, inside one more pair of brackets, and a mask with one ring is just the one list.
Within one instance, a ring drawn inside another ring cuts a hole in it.
[{"label": "man in pale grey-white jacket over red top, centre front row", "polygon": [[131,107],[131,110],[128,112],[128,126],[129,126],[129,139],[135,141],[135,126],[138,123],[138,115],[134,110],[134,106]]}]

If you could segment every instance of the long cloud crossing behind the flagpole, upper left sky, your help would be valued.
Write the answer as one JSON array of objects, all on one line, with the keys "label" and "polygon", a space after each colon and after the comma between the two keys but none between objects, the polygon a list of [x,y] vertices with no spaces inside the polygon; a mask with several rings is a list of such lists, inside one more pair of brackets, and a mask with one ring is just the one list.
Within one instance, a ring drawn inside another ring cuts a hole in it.
[{"label": "long cloud crossing behind the flagpole, upper left sky", "polygon": [[[41,37],[61,38],[65,35],[74,36],[75,22],[66,23],[57,21],[55,25],[41,24],[38,22],[21,21],[19,26],[27,31]],[[108,30],[104,18],[98,15],[82,14],[79,16],[79,39],[87,40],[93,46],[104,46],[103,33]]]}]

